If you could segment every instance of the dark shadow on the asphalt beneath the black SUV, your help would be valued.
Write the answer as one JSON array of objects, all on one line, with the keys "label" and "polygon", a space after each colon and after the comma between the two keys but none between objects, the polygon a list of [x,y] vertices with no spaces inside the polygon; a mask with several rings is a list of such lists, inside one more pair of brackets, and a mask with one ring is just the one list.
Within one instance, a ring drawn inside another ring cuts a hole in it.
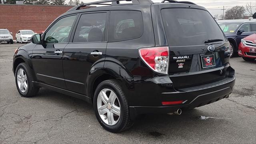
[{"label": "dark shadow on the asphalt beneath the black SUV", "polygon": [[[66,108],[79,109],[80,114],[86,114],[86,117],[89,114],[89,117],[95,118],[95,122],[97,123],[96,117],[94,115],[93,106],[80,99],[60,94],[58,92],[54,92],[51,90],[47,90],[45,88],[40,88],[40,92],[38,93],[38,95],[32,97],[32,99],[39,101],[41,100],[42,102],[50,102],[52,104],[56,104],[56,106],[62,105]],[[155,138],[164,136],[166,134],[172,134],[173,136],[178,134],[187,135],[192,134],[190,132],[190,129],[214,129],[214,125],[219,125],[220,123],[223,123],[223,121],[227,121],[218,120],[215,121],[215,124],[210,124],[209,121],[204,122],[204,120],[199,119],[199,116],[201,116],[202,114],[210,116],[211,112],[202,111],[199,109],[192,109],[182,111],[181,115],[144,114],[136,118],[132,128],[124,132],[121,132],[120,134],[132,136],[134,132],[140,132],[143,135],[153,136]],[[98,127],[101,127],[100,124],[98,124]],[[183,133],[184,129],[187,130],[187,134]]]}]

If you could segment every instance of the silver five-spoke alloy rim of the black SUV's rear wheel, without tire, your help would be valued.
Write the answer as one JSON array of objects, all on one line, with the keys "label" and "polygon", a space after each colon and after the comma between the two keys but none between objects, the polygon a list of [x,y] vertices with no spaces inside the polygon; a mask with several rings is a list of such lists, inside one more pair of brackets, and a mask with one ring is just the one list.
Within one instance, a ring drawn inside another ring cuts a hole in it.
[{"label": "silver five-spoke alloy rim of the black SUV's rear wheel, without tire", "polygon": [[105,88],[97,98],[98,113],[102,121],[110,126],[115,125],[121,114],[120,102],[113,90]]}]

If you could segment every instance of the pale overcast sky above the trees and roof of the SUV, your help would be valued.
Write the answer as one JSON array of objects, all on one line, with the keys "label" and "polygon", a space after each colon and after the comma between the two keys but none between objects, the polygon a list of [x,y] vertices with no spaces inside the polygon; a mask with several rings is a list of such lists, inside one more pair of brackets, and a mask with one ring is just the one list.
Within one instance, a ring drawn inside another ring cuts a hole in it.
[{"label": "pale overcast sky above the trees and roof of the SUV", "polygon": [[[69,2],[70,0],[66,0]],[[80,0],[81,1],[81,0]],[[95,2],[98,0],[82,0],[84,3],[88,2]],[[153,2],[162,2],[162,0],[152,0]],[[178,0],[178,1],[185,1],[185,0]],[[246,6],[246,3],[252,3],[253,12],[256,12],[256,0],[186,0],[190,2],[194,2],[200,6],[204,6],[207,8],[210,13],[214,16],[218,14],[219,16],[223,13],[223,6],[224,9],[232,8],[232,6]]]}]

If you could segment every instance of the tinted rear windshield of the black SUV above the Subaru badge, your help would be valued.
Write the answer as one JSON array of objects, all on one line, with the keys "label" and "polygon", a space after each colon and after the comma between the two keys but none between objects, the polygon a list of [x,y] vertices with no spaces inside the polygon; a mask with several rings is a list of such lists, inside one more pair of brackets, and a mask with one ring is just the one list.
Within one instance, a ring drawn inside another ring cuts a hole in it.
[{"label": "tinted rear windshield of the black SUV above the Subaru badge", "polygon": [[209,12],[198,9],[170,8],[161,11],[169,46],[202,45],[224,35]]}]

